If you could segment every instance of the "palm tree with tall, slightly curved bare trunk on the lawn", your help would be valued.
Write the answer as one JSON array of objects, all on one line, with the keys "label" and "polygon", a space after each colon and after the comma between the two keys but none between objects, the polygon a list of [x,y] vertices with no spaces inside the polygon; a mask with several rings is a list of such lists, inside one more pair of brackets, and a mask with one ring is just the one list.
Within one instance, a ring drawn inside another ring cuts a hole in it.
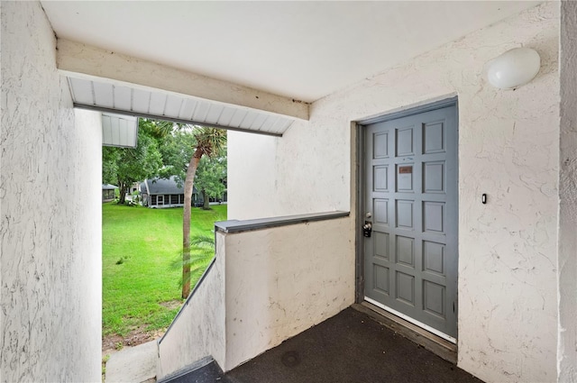
[{"label": "palm tree with tall, slightly curved bare trunk on the lawn", "polygon": [[190,294],[190,208],[192,190],[198,162],[202,156],[218,155],[226,145],[226,131],[209,127],[196,127],[193,135],[197,140],[195,153],[190,158],[184,181],[184,211],[182,214],[182,297]]}]

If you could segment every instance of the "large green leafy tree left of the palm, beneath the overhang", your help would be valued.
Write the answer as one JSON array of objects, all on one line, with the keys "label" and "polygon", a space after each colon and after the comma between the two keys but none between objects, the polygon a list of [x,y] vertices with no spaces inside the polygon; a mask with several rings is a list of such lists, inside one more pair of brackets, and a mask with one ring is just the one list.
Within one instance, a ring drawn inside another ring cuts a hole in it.
[{"label": "large green leafy tree left of the palm, beneath the overhang", "polygon": [[155,124],[145,119],[139,119],[138,123],[136,148],[102,148],[103,183],[118,186],[119,204],[124,204],[124,196],[134,182],[156,176],[162,165],[158,144],[153,137]]}]

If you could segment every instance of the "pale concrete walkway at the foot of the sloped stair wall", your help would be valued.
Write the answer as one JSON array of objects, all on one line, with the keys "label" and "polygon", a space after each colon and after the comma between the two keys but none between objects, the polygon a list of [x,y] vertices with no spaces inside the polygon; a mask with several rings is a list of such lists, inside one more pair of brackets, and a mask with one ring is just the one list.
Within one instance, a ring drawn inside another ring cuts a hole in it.
[{"label": "pale concrete walkway at the foot of the sloped stair wall", "polygon": [[114,352],[106,362],[105,383],[142,383],[156,381],[156,341]]}]

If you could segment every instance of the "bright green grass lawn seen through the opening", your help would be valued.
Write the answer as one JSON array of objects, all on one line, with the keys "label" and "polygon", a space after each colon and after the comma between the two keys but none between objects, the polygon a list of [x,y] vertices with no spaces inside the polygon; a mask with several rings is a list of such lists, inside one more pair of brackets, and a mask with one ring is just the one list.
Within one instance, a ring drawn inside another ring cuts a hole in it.
[{"label": "bright green grass lawn seen through the opening", "polygon": [[[212,207],[192,209],[191,237],[213,235],[215,221],[226,219],[226,205]],[[181,247],[182,208],[102,206],[103,336],[169,326],[179,308],[162,303],[182,301]]]}]

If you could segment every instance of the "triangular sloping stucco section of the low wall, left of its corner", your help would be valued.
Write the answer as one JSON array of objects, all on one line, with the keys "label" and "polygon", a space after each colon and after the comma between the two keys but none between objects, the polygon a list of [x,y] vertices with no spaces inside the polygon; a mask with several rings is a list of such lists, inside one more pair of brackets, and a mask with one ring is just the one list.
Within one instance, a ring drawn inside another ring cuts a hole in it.
[{"label": "triangular sloping stucco section of the low wall, left of its corner", "polygon": [[198,360],[212,357],[224,366],[224,235],[216,233],[215,264],[159,342],[156,378],[188,369]]}]

